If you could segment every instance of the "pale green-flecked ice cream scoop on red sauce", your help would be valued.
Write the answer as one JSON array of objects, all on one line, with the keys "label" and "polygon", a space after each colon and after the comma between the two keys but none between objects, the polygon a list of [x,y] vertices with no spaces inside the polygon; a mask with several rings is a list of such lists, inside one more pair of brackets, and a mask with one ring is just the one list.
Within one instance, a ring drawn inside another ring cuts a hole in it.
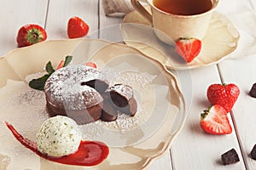
[{"label": "pale green-flecked ice cream scoop on red sauce", "polygon": [[79,149],[82,134],[73,119],[54,116],[47,119],[37,133],[38,150],[48,156],[67,156]]}]

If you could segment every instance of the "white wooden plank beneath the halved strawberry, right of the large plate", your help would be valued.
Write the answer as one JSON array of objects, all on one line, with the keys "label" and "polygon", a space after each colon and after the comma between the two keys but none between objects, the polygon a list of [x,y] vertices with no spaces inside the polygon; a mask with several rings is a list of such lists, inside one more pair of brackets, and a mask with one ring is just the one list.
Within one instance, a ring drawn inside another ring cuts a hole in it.
[{"label": "white wooden plank beneath the halved strawberry, right of the large plate", "polygon": [[[185,73],[188,75],[187,71],[178,72],[180,77]],[[227,135],[211,135],[204,133],[200,127],[200,114],[210,105],[207,88],[212,83],[221,83],[216,65],[192,70],[190,74],[192,84],[187,83],[183,88],[192,90],[192,101],[188,108],[187,122],[172,144],[173,169],[245,169],[235,131]],[[232,123],[231,118],[230,122]],[[224,166],[221,155],[232,148],[236,149],[241,161]]]}]

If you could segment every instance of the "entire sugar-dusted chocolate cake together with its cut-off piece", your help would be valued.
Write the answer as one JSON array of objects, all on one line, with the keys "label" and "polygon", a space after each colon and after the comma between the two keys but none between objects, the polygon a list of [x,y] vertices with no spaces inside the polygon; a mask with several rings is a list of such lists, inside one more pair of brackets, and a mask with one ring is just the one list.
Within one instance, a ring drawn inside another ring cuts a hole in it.
[{"label": "entire sugar-dusted chocolate cake together with its cut-off piece", "polygon": [[109,88],[101,71],[86,65],[70,65],[55,71],[45,82],[49,116],[68,116],[78,124],[102,119],[115,121],[118,111],[135,116],[137,101],[125,84]]}]

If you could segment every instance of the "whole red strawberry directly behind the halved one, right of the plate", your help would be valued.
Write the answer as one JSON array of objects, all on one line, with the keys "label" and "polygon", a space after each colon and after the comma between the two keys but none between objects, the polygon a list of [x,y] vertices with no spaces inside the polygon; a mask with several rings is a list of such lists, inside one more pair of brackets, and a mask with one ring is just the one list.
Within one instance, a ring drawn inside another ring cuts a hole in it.
[{"label": "whole red strawberry directly behind the halved one, right of the plate", "polygon": [[212,84],[207,89],[207,98],[212,105],[221,105],[230,112],[240,94],[236,84]]}]

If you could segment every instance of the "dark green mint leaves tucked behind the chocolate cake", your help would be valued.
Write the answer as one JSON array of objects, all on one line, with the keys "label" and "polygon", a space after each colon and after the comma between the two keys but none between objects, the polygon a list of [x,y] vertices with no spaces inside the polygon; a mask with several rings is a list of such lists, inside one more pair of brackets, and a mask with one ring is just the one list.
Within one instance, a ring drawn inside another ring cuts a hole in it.
[{"label": "dark green mint leaves tucked behind the chocolate cake", "polygon": [[[71,62],[72,58],[73,58],[73,56],[67,55],[65,60],[64,60],[63,67],[67,66]],[[52,75],[52,73],[55,72],[55,69],[53,68],[50,61],[45,65],[45,70],[47,71],[47,74],[45,74],[43,77],[32,79],[32,81],[30,81],[28,83],[30,88],[44,91],[45,82],[47,81],[49,76]]]}]

